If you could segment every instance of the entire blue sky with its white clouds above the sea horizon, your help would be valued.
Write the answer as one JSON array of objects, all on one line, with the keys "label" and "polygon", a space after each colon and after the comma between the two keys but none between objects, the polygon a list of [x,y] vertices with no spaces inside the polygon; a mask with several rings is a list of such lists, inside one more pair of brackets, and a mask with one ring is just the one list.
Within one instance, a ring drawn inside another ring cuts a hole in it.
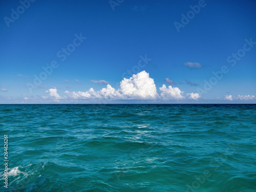
[{"label": "entire blue sky with its white clouds above the sea horizon", "polygon": [[254,1],[0,4],[0,103],[256,103]]}]

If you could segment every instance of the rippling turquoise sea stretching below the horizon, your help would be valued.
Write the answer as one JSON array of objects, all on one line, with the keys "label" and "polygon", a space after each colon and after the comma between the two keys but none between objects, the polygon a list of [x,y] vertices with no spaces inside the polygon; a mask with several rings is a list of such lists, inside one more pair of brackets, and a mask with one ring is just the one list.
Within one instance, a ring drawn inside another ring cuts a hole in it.
[{"label": "rippling turquoise sea stretching below the horizon", "polygon": [[0,191],[256,191],[255,110],[0,105],[1,161],[8,135],[10,168]]}]

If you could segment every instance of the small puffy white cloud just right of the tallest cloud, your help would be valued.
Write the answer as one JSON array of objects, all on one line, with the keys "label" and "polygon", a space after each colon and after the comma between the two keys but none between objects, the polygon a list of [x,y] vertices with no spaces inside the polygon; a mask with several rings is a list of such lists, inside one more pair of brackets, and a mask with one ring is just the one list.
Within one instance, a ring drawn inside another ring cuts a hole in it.
[{"label": "small puffy white cloud just right of the tallest cloud", "polygon": [[165,84],[161,88],[159,88],[161,91],[160,97],[161,99],[184,99],[185,97],[182,96],[184,92],[180,91],[179,88],[173,88],[172,86],[168,86],[166,88]]}]

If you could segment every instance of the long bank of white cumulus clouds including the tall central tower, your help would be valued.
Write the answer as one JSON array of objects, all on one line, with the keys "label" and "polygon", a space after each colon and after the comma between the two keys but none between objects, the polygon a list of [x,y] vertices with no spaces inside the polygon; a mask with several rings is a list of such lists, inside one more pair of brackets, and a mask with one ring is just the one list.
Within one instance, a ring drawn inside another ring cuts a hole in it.
[{"label": "long bank of white cumulus clouds including the tall central tower", "polygon": [[189,93],[183,96],[183,93],[179,88],[173,88],[165,84],[159,88],[160,94],[157,93],[154,79],[150,77],[150,74],[142,71],[134,74],[129,79],[123,78],[120,82],[120,88],[116,90],[111,87],[110,84],[99,91],[95,91],[93,88],[86,92],[69,92],[65,91],[65,97],[60,97],[57,93],[56,88],[49,89],[46,93],[49,93],[50,98],[61,99],[195,99],[197,100],[200,96],[198,93]]}]

